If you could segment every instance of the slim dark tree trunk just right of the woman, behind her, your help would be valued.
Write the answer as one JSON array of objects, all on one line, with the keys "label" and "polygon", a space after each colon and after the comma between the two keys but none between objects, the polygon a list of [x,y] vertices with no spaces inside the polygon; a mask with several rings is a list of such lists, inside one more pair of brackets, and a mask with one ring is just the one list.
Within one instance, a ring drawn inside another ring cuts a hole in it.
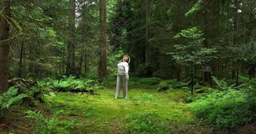
[{"label": "slim dark tree trunk just right of the woman, behind her", "polygon": [[150,21],[151,21],[151,3],[152,0],[146,0],[146,47],[145,47],[145,62],[151,62],[151,43],[150,43]]}]

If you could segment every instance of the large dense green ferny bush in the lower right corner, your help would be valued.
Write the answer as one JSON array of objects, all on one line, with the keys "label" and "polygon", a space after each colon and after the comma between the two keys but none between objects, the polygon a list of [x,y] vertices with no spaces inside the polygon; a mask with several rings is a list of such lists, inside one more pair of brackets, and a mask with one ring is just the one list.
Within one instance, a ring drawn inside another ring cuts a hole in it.
[{"label": "large dense green ferny bush in the lower right corner", "polygon": [[214,129],[232,129],[255,121],[255,107],[255,98],[238,90],[212,92],[191,103],[195,115],[211,123]]}]

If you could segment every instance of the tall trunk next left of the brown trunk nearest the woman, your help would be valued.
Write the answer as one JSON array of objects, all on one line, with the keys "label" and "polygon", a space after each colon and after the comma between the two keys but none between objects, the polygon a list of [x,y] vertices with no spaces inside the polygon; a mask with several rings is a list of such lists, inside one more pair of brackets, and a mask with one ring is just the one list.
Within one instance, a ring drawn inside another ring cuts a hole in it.
[{"label": "tall trunk next left of the brown trunk nearest the woman", "polygon": [[66,74],[75,75],[75,0],[69,0],[69,42],[67,44]]}]

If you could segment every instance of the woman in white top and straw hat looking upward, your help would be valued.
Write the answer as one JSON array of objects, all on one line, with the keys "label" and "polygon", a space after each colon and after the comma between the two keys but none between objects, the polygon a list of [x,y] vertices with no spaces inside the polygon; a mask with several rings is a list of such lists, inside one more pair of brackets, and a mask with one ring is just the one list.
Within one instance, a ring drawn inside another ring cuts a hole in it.
[{"label": "woman in white top and straw hat looking upward", "polygon": [[115,98],[119,98],[119,93],[121,90],[121,85],[123,84],[123,96],[127,99],[127,84],[129,80],[129,56],[123,56],[123,60],[117,64],[118,74],[117,74],[117,88],[116,88],[116,96]]}]

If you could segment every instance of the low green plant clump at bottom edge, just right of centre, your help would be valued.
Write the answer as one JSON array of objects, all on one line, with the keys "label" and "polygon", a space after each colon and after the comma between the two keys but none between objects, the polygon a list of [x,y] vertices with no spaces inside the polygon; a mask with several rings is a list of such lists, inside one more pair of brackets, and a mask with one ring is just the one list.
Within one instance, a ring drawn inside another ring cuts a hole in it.
[{"label": "low green plant clump at bottom edge, just right of centre", "polygon": [[129,133],[166,133],[168,129],[168,124],[163,123],[156,113],[132,115],[126,120],[129,122]]}]

